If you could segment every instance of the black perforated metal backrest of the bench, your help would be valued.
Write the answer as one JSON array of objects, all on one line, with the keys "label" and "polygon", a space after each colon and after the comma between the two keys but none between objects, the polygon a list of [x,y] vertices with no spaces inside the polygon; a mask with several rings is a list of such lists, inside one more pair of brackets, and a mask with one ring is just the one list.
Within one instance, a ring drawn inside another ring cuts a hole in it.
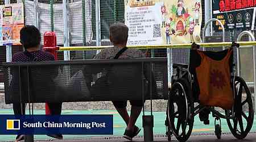
[{"label": "black perforated metal backrest of the bench", "polygon": [[26,103],[140,100],[142,91],[146,99],[168,95],[166,59],[58,62],[5,64],[6,103],[20,102],[20,93]]}]

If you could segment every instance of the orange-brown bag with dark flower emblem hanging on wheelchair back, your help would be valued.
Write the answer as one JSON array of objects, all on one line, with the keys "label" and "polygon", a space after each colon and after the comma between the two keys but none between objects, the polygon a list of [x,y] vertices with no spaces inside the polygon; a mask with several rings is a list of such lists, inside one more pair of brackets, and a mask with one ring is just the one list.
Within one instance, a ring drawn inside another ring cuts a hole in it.
[{"label": "orange-brown bag with dark flower emblem hanging on wheelchair back", "polygon": [[221,60],[213,60],[203,51],[197,53],[201,57],[201,64],[196,68],[200,104],[231,109],[234,97],[230,84],[229,59],[233,55],[233,49],[228,49],[226,56]]}]

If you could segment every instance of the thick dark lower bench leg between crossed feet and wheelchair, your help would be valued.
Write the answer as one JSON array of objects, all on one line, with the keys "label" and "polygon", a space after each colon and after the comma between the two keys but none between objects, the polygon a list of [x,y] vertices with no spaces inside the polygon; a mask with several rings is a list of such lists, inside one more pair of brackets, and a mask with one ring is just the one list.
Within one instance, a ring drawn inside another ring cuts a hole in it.
[{"label": "thick dark lower bench leg between crossed feet and wheelchair", "polygon": [[142,121],[143,121],[144,141],[154,141],[154,138],[153,138],[154,116],[143,115]]}]

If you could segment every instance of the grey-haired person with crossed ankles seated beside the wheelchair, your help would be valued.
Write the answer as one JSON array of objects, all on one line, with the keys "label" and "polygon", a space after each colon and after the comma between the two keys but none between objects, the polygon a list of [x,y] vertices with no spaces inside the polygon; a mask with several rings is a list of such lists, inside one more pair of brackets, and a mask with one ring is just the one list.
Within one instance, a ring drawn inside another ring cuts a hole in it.
[{"label": "grey-haired person with crossed ankles seated beside the wheelchair", "polygon": [[[100,53],[98,53],[94,59],[114,59],[114,56],[122,49],[126,47],[127,39],[128,39],[128,27],[123,23],[113,24],[109,28],[109,39],[113,43],[114,47],[109,47],[102,49]],[[142,58],[146,57],[141,51],[137,49],[127,49],[125,52],[119,56],[118,59],[134,59],[134,58]],[[114,107],[117,109],[119,115],[122,116],[125,121],[127,127],[123,137],[126,139],[132,140],[134,136],[138,135],[140,128],[135,126],[136,120],[138,119],[139,114],[141,114],[143,101],[132,101],[131,104],[131,115],[128,115],[126,106],[127,101],[112,101]]]}]

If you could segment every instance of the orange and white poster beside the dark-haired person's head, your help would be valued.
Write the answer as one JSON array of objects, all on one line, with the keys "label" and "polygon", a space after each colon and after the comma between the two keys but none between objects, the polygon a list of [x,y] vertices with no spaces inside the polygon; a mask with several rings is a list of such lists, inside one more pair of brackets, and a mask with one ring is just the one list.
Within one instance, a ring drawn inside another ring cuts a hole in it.
[{"label": "orange and white poster beside the dark-haired person's head", "polygon": [[3,5],[0,9],[0,44],[19,45],[19,31],[24,26],[23,4]]}]

